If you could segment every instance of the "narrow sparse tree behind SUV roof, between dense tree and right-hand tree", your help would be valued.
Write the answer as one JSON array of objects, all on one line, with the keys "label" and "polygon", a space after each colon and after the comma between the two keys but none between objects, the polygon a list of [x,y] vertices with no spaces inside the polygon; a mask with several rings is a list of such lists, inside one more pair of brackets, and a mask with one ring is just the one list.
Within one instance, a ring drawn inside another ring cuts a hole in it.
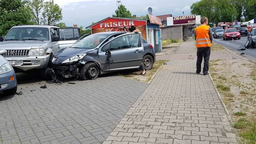
[{"label": "narrow sparse tree behind SUV roof, between dense tree and right-hand tree", "polygon": [[33,18],[32,20],[39,25],[40,24],[40,13],[44,8],[44,0],[32,0],[29,3],[29,7],[32,10]]}]

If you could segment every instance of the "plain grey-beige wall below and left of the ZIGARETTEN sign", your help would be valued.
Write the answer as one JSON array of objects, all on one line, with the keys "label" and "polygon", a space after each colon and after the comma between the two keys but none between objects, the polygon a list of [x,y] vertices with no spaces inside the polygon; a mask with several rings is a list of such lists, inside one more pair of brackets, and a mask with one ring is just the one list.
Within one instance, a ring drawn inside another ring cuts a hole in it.
[{"label": "plain grey-beige wall below and left of the ZIGARETTEN sign", "polygon": [[161,27],[161,30],[162,30],[162,40],[183,39],[182,26]]}]

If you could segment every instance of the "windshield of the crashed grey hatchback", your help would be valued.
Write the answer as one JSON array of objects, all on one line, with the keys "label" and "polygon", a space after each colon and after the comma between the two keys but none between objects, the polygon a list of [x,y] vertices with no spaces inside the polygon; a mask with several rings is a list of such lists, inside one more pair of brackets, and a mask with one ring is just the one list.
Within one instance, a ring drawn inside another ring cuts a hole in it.
[{"label": "windshield of the crashed grey hatchback", "polygon": [[93,49],[97,47],[108,35],[94,34],[86,36],[83,39],[80,39],[79,42],[72,45],[74,48],[86,48]]}]

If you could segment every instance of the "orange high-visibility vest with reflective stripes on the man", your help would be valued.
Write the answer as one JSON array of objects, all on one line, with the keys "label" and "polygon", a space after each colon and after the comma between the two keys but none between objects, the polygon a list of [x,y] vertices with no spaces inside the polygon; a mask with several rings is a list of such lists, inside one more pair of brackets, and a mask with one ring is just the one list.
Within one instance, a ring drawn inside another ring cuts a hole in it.
[{"label": "orange high-visibility vest with reflective stripes on the man", "polygon": [[196,28],[196,47],[210,47],[210,26],[201,25]]}]

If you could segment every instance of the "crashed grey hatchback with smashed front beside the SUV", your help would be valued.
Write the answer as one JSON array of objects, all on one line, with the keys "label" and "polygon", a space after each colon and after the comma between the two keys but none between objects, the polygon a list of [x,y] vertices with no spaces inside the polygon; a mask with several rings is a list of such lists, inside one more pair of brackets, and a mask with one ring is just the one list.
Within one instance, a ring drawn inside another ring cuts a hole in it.
[{"label": "crashed grey hatchback with smashed front beside the SUV", "polygon": [[64,78],[96,79],[99,74],[139,68],[155,63],[154,47],[140,33],[103,32],[84,36],[50,58],[50,68]]}]

